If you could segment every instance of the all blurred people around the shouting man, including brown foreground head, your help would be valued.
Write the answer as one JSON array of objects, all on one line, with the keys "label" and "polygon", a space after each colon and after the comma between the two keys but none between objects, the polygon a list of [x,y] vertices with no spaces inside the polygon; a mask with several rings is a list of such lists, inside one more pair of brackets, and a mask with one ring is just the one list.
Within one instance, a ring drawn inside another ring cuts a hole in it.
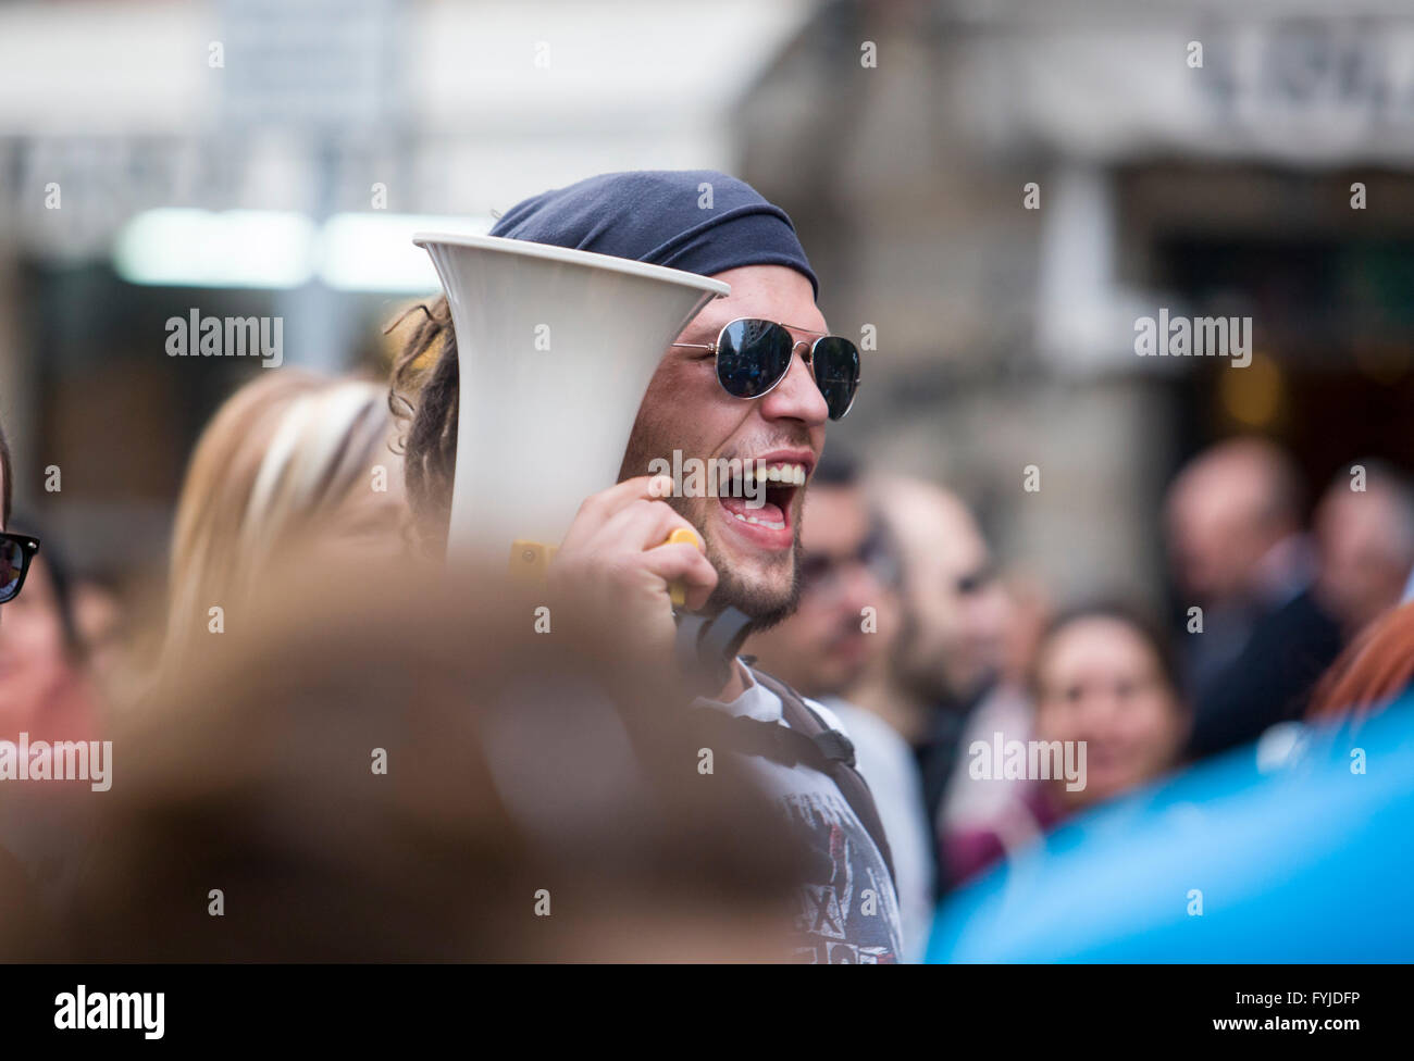
[{"label": "all blurred people around the shouting man, including brown foreground head", "polygon": [[[8,511],[6,469],[6,528],[44,544],[0,612],[0,735],[112,739],[124,781],[106,801],[7,786],[0,901],[30,911],[6,918],[24,927],[8,954],[782,954],[795,855],[759,794],[738,778],[703,801],[655,770],[693,735],[665,729],[652,689],[625,728],[594,706],[588,648],[546,657],[472,575],[417,558],[392,408],[385,381],[293,369],[230,396],[189,461],[157,623],[71,578],[42,523]],[[744,653],[844,722],[908,958],[939,901],[1060,822],[1205,757],[1280,757],[1301,726],[1410,685],[1414,489],[1355,459],[1307,490],[1266,439],[1192,456],[1161,513],[1155,615],[1053,599],[998,565],[957,493],[827,446],[799,609]],[[1083,747],[1080,783],[1014,773],[1012,742]],[[392,802],[349,749],[395,764]],[[339,875],[356,886],[331,908],[318,882]],[[184,889],[267,931],[212,928]],[[506,896],[529,908],[542,889],[601,900],[537,937]]]}]

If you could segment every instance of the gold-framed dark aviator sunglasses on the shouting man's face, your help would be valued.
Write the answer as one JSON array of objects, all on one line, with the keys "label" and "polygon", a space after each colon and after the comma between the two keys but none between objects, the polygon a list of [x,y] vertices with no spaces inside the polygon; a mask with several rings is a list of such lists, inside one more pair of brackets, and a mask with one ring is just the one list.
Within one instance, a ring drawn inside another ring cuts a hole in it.
[{"label": "gold-framed dark aviator sunglasses on the shouting man's face", "polygon": [[768,394],[790,370],[797,346],[805,346],[805,363],[824,396],[830,420],[840,420],[854,404],[860,387],[860,350],[839,335],[822,335],[812,343],[796,340],[785,325],[744,316],[732,321],[713,343],[673,343],[717,355],[717,381],[734,398],[759,398]]}]

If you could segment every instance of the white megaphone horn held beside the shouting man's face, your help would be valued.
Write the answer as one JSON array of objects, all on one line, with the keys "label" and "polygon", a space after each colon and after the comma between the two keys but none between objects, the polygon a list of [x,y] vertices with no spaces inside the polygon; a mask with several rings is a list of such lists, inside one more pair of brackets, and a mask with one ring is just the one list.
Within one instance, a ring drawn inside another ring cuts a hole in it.
[{"label": "white megaphone horn held beside the shouting man's face", "polygon": [[643,391],[718,281],[498,236],[417,233],[457,333],[448,558],[543,567],[618,479]]}]

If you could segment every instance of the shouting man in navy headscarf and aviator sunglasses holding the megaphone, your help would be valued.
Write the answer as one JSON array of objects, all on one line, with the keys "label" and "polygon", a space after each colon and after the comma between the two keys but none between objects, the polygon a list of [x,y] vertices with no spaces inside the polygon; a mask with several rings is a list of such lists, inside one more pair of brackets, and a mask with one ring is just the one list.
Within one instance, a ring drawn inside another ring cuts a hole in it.
[{"label": "shouting man in navy headscarf and aviator sunglasses holding the megaphone", "polygon": [[[816,307],[816,275],[785,211],[717,171],[617,172],[526,199],[491,235],[667,266],[731,285],[730,297],[703,308],[663,352],[619,482],[584,500],[547,568],[551,595],[614,632],[608,651],[618,654],[619,674],[674,665],[672,583],[686,591],[686,607],[701,615],[734,607],[755,629],[789,616],[799,598],[806,483],[824,448],[827,421],[848,413],[854,400],[860,355],[853,342],[829,333]],[[444,298],[427,308],[410,336],[393,387],[411,420],[409,500],[436,551],[448,526],[458,410],[457,349]],[[570,400],[573,394],[546,394],[539,408],[527,410],[526,429],[534,429],[536,417],[554,415],[557,401]],[[655,461],[672,465],[674,451],[706,466],[717,466],[714,459],[764,465],[764,503],[665,494],[669,480],[648,472]],[[696,533],[703,548],[693,541],[665,544],[674,530]],[[789,687],[769,688],[740,658],[728,675],[696,706],[721,712],[732,732],[764,735],[758,745],[782,743],[775,739],[782,728],[790,740],[810,725],[822,730],[813,736],[836,736],[834,759],[751,754],[816,852],[816,869],[799,891],[796,956],[899,961],[888,845],[867,787],[855,787],[857,773],[841,774],[853,770],[847,740],[837,739],[841,723],[827,709],[805,705]],[[812,737],[810,747],[824,745]]]}]

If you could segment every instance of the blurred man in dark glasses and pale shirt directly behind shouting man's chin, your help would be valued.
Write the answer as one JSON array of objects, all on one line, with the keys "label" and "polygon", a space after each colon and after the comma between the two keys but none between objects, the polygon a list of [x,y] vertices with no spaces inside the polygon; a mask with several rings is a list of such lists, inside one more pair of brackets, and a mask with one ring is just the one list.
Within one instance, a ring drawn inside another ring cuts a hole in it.
[{"label": "blurred man in dark glasses and pale shirt directly behind shouting man's chin", "polygon": [[898,561],[848,455],[826,451],[816,466],[800,545],[799,606],[754,634],[745,651],[844,725],[894,855],[904,954],[921,961],[932,918],[933,856],[918,764],[889,722],[843,695],[888,653],[898,615]]}]

